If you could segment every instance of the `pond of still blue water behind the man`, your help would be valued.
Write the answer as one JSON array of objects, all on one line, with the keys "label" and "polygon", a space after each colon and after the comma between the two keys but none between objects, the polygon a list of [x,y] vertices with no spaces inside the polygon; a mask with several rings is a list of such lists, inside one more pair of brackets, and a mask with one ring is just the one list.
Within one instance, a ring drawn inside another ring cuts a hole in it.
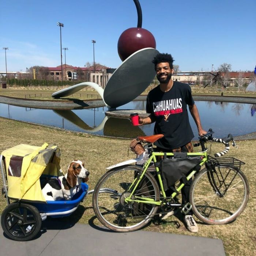
[{"label": "pond of still blue water behind the man", "polygon": [[[218,101],[196,101],[196,105],[203,128],[205,130],[212,128],[215,137],[223,138],[228,133],[239,136],[256,131],[256,105]],[[132,101],[117,109],[145,110],[145,108],[146,101]],[[0,103],[0,116],[14,120],[120,138],[153,134],[154,124],[134,127],[128,118],[107,117],[106,111],[108,111],[106,107],[51,110]],[[195,135],[194,140],[196,140],[197,128],[190,114],[189,120]]]}]

